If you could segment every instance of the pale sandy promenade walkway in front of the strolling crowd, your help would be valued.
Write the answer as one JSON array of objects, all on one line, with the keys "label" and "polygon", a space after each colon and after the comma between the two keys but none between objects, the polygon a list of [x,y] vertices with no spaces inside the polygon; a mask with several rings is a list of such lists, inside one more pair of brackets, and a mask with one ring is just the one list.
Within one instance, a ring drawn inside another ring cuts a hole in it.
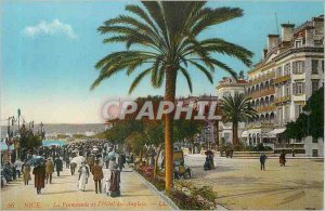
[{"label": "pale sandy promenade walkway in front of the strolling crowd", "polygon": [[[104,170],[104,174],[108,170]],[[34,180],[34,176],[32,176]],[[41,195],[36,194],[34,181],[25,186],[22,181],[11,183],[1,188],[1,208],[14,209],[136,209],[136,210],[170,210],[167,203],[154,190],[150,189],[130,169],[121,172],[121,197],[112,198],[105,194],[95,194],[92,176],[86,192],[77,188],[77,175],[72,176],[64,169],[62,176],[53,173],[53,184],[46,184]]]}]

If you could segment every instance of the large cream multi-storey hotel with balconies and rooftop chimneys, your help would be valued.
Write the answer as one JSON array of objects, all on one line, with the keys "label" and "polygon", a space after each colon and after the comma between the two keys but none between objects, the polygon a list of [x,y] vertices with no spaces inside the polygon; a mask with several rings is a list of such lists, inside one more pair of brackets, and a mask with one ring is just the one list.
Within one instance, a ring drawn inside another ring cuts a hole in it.
[{"label": "large cream multi-storey hotel with balconies and rooftop chimneys", "polygon": [[247,143],[288,143],[283,132],[314,90],[324,84],[324,16],[269,35],[263,58],[248,71],[247,93],[259,117],[247,126]]}]

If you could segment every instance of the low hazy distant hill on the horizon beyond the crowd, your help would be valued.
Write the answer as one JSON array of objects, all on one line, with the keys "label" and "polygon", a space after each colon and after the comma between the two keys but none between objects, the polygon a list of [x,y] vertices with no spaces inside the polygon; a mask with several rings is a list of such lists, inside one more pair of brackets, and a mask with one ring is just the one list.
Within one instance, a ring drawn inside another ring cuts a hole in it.
[{"label": "low hazy distant hill on the horizon beyond the crowd", "polygon": [[[17,126],[13,127],[14,130],[17,130]],[[80,123],[80,124],[73,124],[73,123],[46,123],[43,126],[46,133],[72,133],[72,134],[84,134],[86,132],[103,132],[105,130],[105,124],[103,123]],[[1,137],[4,137],[6,134],[8,128],[2,126],[1,127]],[[34,127],[34,131],[40,130],[40,126],[36,124]]]}]

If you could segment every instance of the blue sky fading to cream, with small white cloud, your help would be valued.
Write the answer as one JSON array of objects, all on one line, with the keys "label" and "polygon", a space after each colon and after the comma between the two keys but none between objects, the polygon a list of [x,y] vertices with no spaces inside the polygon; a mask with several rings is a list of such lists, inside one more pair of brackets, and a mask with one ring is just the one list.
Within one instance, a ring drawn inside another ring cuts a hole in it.
[{"label": "blue sky fading to cream, with small white cloud", "polygon": [[[1,124],[21,108],[26,121],[46,123],[99,123],[103,105],[110,98],[162,95],[145,79],[129,95],[136,75],[115,75],[94,91],[89,88],[99,75],[94,64],[122,44],[103,44],[107,36],[96,28],[104,21],[127,14],[125,5],[136,1],[23,1],[2,0],[1,5]],[[240,44],[261,60],[266,36],[281,31],[282,23],[296,26],[323,14],[322,1],[211,1],[211,8],[238,6],[244,16],[213,26],[200,38],[218,37]],[[275,13],[277,16],[277,25]],[[240,62],[218,55],[236,71],[248,70]],[[217,70],[214,83],[190,70],[193,95],[216,95],[218,81],[227,76]],[[183,78],[178,79],[177,95],[188,95]]]}]

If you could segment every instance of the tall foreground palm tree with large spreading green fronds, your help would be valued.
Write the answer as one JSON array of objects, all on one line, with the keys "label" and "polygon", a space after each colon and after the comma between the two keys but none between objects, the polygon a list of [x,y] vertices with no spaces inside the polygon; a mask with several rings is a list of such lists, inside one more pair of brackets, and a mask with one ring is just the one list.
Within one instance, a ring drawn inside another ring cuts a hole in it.
[{"label": "tall foreground palm tree with large spreading green fronds", "polygon": [[[109,53],[96,63],[95,67],[101,71],[91,89],[121,70],[126,70],[129,76],[142,67],[143,70],[135,77],[129,93],[144,77],[151,76],[154,88],[160,88],[165,81],[165,101],[174,102],[179,74],[185,77],[192,92],[190,67],[203,72],[211,83],[216,67],[236,76],[231,67],[216,58],[217,54],[212,56],[211,53],[233,56],[247,66],[251,65],[252,53],[243,47],[220,38],[198,39],[208,27],[242,16],[240,9],[211,9],[206,6],[204,1],[142,1],[142,4],[143,6],[127,5],[126,11],[131,15],[107,19],[99,27],[101,34],[110,35],[104,39],[104,43],[121,42],[126,44],[127,50]],[[166,115],[167,190],[172,185],[172,116]]]}]

